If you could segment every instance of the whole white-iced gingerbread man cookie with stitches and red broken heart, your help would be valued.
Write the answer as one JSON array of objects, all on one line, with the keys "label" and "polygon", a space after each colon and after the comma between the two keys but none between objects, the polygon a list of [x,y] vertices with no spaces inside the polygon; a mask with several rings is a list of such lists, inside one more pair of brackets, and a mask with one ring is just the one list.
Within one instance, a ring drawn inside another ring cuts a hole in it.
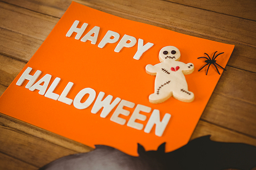
[{"label": "whole white-iced gingerbread man cookie with stitches and red broken heart", "polygon": [[173,96],[182,102],[192,102],[194,93],[188,91],[184,75],[194,71],[193,63],[179,61],[180,51],[175,46],[165,46],[159,52],[160,63],[146,65],[146,72],[156,76],[155,92],[150,95],[149,100],[153,104],[162,103]]}]

